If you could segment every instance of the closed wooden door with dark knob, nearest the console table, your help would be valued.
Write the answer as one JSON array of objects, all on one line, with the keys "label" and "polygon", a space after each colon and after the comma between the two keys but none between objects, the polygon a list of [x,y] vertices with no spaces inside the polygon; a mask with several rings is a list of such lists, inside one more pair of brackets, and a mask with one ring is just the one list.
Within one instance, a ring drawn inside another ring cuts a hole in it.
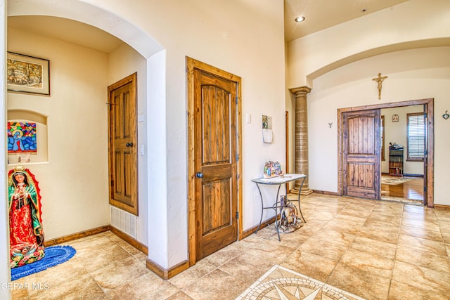
[{"label": "closed wooden door with dark knob, nearest the console table", "polygon": [[236,82],[194,71],[195,256],[237,240]]}]

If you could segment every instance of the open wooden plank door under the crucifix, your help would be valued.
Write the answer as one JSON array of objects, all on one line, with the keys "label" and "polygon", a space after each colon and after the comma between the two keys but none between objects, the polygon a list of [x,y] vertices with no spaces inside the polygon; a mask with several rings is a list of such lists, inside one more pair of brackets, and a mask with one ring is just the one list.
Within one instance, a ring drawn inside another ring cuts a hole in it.
[{"label": "open wooden plank door under the crucifix", "polygon": [[380,199],[380,110],[344,112],[344,195]]}]

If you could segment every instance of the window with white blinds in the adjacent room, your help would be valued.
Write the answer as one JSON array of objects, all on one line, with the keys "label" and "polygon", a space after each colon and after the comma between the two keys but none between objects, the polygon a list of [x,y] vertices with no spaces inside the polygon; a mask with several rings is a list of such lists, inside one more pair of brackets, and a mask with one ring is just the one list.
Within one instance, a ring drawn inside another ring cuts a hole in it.
[{"label": "window with white blinds in the adjacent room", "polygon": [[425,119],[423,112],[407,114],[408,157],[407,160],[423,161],[425,154]]}]

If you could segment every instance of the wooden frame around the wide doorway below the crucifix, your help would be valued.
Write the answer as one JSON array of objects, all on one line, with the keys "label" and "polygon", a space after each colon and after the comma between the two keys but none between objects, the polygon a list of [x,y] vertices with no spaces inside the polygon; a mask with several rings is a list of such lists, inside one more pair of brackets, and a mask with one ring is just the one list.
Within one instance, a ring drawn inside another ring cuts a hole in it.
[{"label": "wooden frame around the wide doorway below the crucifix", "polygon": [[404,107],[411,105],[427,105],[427,146],[428,146],[428,167],[427,167],[427,206],[432,208],[435,207],[435,198],[434,198],[434,182],[435,182],[435,122],[434,122],[434,98],[428,99],[420,99],[420,100],[411,100],[411,101],[402,101],[402,102],[394,102],[394,103],[383,103],[383,104],[375,104],[375,105],[364,105],[357,107],[347,107],[347,108],[338,108],[338,195],[343,195],[343,174],[342,174],[342,114],[344,112],[353,112],[359,110],[377,110],[383,108],[392,108],[392,107]]}]

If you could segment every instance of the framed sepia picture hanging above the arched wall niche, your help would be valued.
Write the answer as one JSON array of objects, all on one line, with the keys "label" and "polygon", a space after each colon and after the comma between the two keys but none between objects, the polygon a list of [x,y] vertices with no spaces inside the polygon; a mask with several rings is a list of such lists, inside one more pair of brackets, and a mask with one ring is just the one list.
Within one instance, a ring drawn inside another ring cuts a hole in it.
[{"label": "framed sepia picture hanging above the arched wall niche", "polygon": [[50,96],[50,61],[8,52],[8,91]]}]

